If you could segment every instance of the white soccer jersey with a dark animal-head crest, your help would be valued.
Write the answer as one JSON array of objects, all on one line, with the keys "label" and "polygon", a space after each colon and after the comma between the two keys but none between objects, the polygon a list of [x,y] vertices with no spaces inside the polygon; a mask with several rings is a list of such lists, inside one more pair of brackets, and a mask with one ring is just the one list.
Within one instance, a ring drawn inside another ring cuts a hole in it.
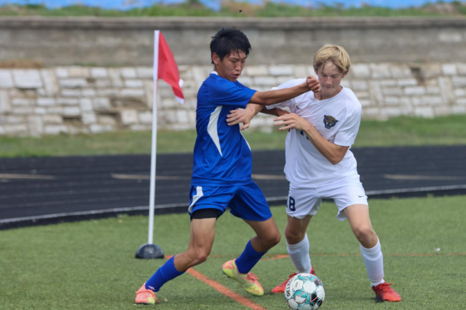
[{"label": "white soccer jersey with a dark animal-head crest", "polygon": [[[281,84],[280,88],[290,88],[302,84],[306,79],[295,79]],[[309,121],[328,141],[336,145],[349,146],[354,143],[361,121],[361,103],[349,88],[343,88],[336,96],[316,100],[309,91],[291,100],[267,108],[289,107]],[[356,159],[348,149],[343,160],[332,165],[308,140],[306,133],[291,129],[286,142],[285,175],[290,187],[307,188],[332,182],[344,176],[357,175]]]}]

